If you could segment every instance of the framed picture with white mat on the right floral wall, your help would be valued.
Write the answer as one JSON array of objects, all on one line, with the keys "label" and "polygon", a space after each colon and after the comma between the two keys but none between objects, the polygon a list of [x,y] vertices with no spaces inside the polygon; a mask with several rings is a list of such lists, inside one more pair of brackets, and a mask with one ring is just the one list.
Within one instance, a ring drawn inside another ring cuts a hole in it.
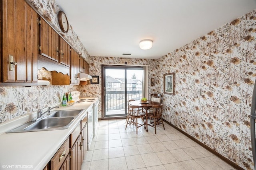
[{"label": "framed picture with white mat on the right floral wall", "polygon": [[164,74],[164,94],[174,95],[174,72]]}]

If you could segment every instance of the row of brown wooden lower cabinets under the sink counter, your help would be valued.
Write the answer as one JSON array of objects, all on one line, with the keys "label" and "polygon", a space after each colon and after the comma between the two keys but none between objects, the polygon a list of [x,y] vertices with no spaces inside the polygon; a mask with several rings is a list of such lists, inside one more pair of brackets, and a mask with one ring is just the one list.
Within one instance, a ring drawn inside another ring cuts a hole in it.
[{"label": "row of brown wooden lower cabinets under the sink counter", "polygon": [[81,170],[87,150],[87,116],[86,113],[44,170]]}]

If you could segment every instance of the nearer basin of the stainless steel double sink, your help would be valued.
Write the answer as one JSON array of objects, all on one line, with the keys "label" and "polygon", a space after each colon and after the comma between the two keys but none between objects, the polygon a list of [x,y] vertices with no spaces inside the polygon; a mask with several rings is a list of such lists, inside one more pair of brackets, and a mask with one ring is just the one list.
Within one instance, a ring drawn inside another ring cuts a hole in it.
[{"label": "nearer basin of the stainless steel double sink", "polygon": [[74,117],[53,117],[42,119],[32,125],[26,127],[24,131],[36,131],[41,129],[67,129],[70,122],[74,119]]}]

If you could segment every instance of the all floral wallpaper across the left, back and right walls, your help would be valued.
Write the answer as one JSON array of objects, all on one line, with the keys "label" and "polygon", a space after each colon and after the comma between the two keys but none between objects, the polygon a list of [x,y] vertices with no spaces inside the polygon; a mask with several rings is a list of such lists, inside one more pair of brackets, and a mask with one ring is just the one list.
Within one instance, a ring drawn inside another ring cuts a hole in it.
[{"label": "all floral wallpaper across the left, back and right walls", "polygon": [[[28,0],[60,31],[55,0]],[[90,64],[100,84],[0,87],[0,123],[61,101],[63,92],[101,101],[101,64],[121,58],[90,57],[70,25],[60,34]],[[211,31],[158,60],[130,59],[148,65],[149,94],[163,92],[163,74],[175,73],[175,95],[164,95],[164,119],[244,169],[254,169],[250,143],[250,106],[256,78],[256,10]],[[50,72],[38,70],[51,80]],[[200,94],[197,91],[200,90]],[[101,105],[101,103],[100,103]],[[99,118],[101,106],[99,106]]]}]

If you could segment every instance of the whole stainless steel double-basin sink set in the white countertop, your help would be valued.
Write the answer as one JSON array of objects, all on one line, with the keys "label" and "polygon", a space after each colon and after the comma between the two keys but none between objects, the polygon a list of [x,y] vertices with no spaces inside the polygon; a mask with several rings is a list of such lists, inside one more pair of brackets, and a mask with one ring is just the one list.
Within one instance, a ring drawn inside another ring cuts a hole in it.
[{"label": "whole stainless steel double-basin sink set in the white countertop", "polygon": [[6,133],[33,132],[33,131],[52,131],[68,129],[76,116],[82,113],[84,109],[77,110],[57,110],[50,112],[50,115],[36,122],[29,121],[19,127],[16,127]]}]

